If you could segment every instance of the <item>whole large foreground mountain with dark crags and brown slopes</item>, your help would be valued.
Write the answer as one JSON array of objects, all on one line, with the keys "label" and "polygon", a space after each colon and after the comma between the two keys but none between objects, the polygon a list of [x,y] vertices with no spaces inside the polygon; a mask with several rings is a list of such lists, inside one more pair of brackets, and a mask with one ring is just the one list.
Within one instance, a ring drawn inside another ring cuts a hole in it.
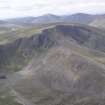
[{"label": "whole large foreground mountain with dark crags and brown slopes", "polygon": [[56,23],[0,45],[0,74],[4,105],[104,105],[105,31]]}]

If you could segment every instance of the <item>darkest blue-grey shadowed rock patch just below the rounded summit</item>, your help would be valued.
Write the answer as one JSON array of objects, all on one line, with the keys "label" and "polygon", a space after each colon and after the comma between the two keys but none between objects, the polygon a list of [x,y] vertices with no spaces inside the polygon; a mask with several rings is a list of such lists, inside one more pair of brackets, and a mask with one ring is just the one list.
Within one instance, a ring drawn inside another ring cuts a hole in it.
[{"label": "darkest blue-grey shadowed rock patch just below the rounded summit", "polygon": [[[79,44],[83,44],[90,38],[90,31],[83,27],[79,26],[57,26],[56,29],[61,32],[64,36],[68,36],[78,42]],[[85,33],[85,34],[84,34]]]}]

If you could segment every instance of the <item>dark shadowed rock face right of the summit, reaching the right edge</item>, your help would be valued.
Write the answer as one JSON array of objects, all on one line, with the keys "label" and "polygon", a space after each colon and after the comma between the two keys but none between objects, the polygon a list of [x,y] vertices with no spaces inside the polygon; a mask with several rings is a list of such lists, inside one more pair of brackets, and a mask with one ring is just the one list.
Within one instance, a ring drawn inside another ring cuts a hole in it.
[{"label": "dark shadowed rock face right of the summit, reaching the right edge", "polygon": [[64,36],[72,38],[78,44],[105,51],[105,36],[104,33],[98,33],[96,29],[92,27],[83,26],[57,26],[56,30],[61,32]]}]

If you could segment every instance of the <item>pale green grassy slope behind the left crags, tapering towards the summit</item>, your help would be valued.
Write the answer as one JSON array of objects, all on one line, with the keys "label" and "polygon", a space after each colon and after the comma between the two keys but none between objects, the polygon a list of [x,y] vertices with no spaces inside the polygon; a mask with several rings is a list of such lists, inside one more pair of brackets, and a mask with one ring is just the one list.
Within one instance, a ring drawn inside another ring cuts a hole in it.
[{"label": "pale green grassy slope behind the left crags, tapering towards the summit", "polygon": [[11,28],[0,27],[0,45],[13,42],[18,38],[30,37],[33,34],[41,33],[42,30],[55,26],[57,23],[42,24],[38,26],[18,27],[15,30]]}]

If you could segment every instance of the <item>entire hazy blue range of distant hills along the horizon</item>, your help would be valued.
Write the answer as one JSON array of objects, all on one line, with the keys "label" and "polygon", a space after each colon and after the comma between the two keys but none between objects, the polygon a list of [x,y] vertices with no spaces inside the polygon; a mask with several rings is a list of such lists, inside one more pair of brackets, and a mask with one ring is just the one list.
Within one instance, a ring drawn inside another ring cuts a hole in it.
[{"label": "entire hazy blue range of distant hills along the horizon", "polygon": [[80,23],[80,24],[89,24],[93,22],[95,19],[105,17],[102,15],[90,15],[84,13],[77,13],[73,15],[65,15],[65,16],[57,16],[53,14],[45,14],[39,17],[23,17],[16,19],[7,20],[13,24],[21,24],[21,25],[38,25],[38,24],[48,24],[55,22],[69,22],[69,23]]}]

